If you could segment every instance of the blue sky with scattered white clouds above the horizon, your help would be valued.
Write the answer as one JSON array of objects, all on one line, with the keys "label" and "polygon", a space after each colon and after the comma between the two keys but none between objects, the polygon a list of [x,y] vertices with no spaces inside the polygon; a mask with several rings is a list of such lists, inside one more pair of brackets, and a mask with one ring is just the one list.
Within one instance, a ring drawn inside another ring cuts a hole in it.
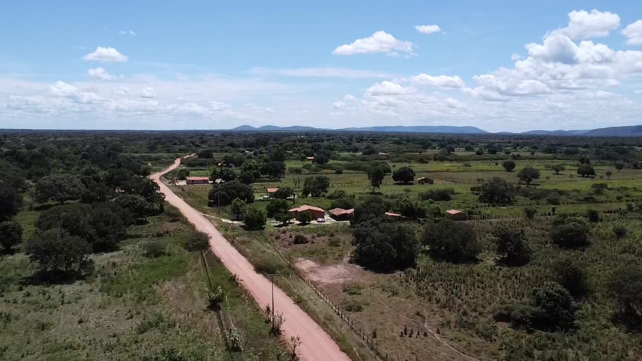
[{"label": "blue sky with scattered white clouds above the horizon", "polygon": [[641,19],[633,1],[11,2],[0,128],[636,125]]}]

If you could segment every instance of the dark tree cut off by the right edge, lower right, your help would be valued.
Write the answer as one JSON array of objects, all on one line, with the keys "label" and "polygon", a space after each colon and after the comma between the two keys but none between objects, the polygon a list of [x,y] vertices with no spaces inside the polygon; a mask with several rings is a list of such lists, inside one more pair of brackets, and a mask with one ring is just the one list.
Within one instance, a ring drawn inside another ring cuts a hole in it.
[{"label": "dark tree cut off by the right edge, lower right", "polygon": [[615,272],[610,285],[618,315],[631,331],[642,331],[642,267],[628,265]]}]

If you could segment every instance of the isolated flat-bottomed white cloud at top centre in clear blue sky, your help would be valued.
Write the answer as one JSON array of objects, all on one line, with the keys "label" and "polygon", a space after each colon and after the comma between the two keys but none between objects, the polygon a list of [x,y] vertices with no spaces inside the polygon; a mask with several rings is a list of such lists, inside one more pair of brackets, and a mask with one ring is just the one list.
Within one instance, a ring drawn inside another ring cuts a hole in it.
[{"label": "isolated flat-bottomed white cloud at top centre in clear blue sky", "polygon": [[388,55],[399,55],[404,53],[412,55],[415,44],[410,41],[399,40],[394,36],[379,30],[372,36],[354,40],[351,44],[338,46],[332,52],[334,55],[356,55],[356,54],[374,54],[386,53]]}]

